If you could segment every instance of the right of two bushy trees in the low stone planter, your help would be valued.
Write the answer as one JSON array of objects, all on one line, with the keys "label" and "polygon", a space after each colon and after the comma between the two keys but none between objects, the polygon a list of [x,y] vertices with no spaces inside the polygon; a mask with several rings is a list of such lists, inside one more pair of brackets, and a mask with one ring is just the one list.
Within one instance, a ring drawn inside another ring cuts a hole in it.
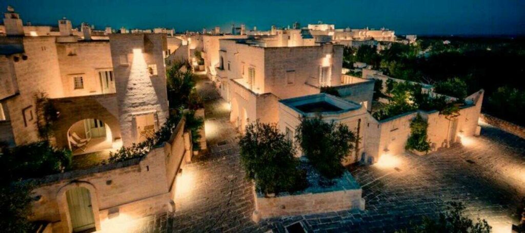
[{"label": "right of two bushy trees in the low stone planter", "polygon": [[333,179],[343,174],[341,162],[354,149],[356,137],[344,124],[303,118],[296,129],[296,140],[321,176]]}]

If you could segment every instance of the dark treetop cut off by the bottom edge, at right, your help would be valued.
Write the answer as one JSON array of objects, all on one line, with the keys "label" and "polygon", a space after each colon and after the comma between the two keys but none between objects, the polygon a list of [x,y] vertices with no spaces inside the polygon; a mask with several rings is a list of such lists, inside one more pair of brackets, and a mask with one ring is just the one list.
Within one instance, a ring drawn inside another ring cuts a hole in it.
[{"label": "dark treetop cut off by the bottom edge, at right", "polygon": [[451,202],[445,213],[439,214],[437,219],[424,216],[422,223],[411,229],[396,231],[399,233],[489,233],[492,227],[485,219],[477,219],[476,223],[465,215],[463,203]]}]

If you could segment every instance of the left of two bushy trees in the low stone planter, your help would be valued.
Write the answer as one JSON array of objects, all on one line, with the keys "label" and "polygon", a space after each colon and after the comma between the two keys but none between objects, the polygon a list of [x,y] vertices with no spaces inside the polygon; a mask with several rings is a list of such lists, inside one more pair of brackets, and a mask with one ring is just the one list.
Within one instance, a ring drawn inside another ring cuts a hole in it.
[{"label": "left of two bushy trees in the low stone planter", "polygon": [[265,195],[297,192],[308,186],[306,171],[299,170],[296,148],[275,124],[257,120],[246,126],[239,139],[240,161],[246,178],[255,181],[258,192]]}]

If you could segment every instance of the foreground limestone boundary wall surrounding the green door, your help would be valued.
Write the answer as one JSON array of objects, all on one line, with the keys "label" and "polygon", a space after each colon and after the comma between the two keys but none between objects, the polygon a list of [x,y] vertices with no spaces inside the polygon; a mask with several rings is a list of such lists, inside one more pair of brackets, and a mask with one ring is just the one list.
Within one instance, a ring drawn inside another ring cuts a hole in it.
[{"label": "foreground limestone boundary wall surrounding the green door", "polygon": [[143,158],[44,177],[34,190],[39,200],[30,220],[53,223],[53,232],[70,232],[65,193],[72,187],[88,188],[97,230],[125,231],[134,219],[173,211],[176,174],[191,160],[189,140],[183,119],[168,142]]}]

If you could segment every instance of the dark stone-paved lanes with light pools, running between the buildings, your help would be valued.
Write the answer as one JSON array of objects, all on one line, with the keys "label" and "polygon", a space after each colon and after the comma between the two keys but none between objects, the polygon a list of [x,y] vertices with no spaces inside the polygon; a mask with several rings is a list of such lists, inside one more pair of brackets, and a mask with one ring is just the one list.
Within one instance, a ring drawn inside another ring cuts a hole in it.
[{"label": "dark stone-paved lanes with light pools, running between the buildings", "polygon": [[[348,169],[362,185],[364,211],[351,210],[251,221],[254,200],[239,164],[238,133],[229,107],[203,78],[208,151],[183,171],[173,214],[152,216],[140,231],[285,232],[301,221],[309,232],[392,232],[435,216],[447,202],[463,202],[468,214],[484,218],[493,232],[510,231],[516,205],[525,194],[525,140],[490,125],[464,145],[426,156],[402,154],[372,166]],[[177,186],[178,188],[179,186]]]}]

